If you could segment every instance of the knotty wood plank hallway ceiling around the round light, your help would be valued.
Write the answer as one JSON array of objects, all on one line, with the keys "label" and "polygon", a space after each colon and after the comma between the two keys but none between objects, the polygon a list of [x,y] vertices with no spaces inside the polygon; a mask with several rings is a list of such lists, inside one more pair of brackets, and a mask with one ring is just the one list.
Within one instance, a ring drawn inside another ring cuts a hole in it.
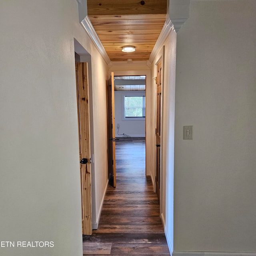
[{"label": "knotty wood plank hallway ceiling around the round light", "polygon": [[[88,17],[111,61],[148,60],[166,20],[167,0],[88,0]],[[132,45],[135,52],[122,52]]]}]

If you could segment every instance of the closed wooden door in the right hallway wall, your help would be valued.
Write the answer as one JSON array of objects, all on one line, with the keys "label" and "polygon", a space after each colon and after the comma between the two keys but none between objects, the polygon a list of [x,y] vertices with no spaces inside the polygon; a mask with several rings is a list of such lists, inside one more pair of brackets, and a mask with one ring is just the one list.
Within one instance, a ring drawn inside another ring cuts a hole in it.
[{"label": "closed wooden door in the right hallway wall", "polygon": [[162,60],[158,62],[156,67],[156,194],[160,200]]}]

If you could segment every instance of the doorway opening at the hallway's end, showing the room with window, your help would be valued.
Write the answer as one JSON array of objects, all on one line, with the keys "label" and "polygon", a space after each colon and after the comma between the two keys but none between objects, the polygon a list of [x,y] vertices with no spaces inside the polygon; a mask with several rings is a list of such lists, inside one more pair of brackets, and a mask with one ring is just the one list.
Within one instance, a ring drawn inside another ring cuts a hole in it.
[{"label": "doorway opening at the hallway's end, showing the room with window", "polygon": [[[128,156],[131,166],[140,166],[146,175],[146,75],[114,76],[114,101],[116,171]],[[136,175],[134,168],[131,176]]]}]

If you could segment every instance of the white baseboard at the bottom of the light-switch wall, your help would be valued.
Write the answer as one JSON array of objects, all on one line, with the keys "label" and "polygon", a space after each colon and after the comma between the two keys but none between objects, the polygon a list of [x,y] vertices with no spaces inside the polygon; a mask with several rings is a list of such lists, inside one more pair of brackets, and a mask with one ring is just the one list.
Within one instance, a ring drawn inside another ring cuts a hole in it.
[{"label": "white baseboard at the bottom of the light-switch wall", "polygon": [[[167,238],[166,238],[167,239]],[[256,252],[173,252],[172,256],[256,256]]]}]

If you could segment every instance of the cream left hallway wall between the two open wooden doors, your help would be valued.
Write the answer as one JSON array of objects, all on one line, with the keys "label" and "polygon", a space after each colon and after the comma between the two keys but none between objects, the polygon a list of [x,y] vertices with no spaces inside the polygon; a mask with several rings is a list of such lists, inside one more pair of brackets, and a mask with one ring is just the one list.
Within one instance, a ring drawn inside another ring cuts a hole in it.
[{"label": "cream left hallway wall between the two open wooden doors", "polygon": [[92,96],[94,125],[94,176],[95,176],[95,207],[98,226],[100,212],[108,183],[108,136],[107,136],[107,80],[108,66],[99,52],[92,53]]}]

